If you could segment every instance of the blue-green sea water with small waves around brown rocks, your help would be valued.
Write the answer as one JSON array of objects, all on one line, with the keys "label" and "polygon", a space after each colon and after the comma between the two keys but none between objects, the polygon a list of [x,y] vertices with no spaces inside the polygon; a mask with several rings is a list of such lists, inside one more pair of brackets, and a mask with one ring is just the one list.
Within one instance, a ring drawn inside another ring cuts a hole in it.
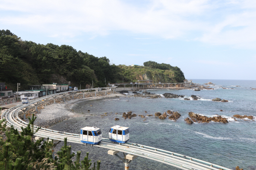
[{"label": "blue-green sea water with small waves around brown rocks", "polygon": [[[65,120],[54,125],[51,129],[79,134],[82,127],[96,126],[101,128],[103,137],[108,138],[109,127],[121,125],[130,128],[129,142],[176,152],[230,169],[239,166],[244,170],[255,170],[256,121],[242,119],[235,121],[231,117],[235,114],[256,117],[256,90],[252,90],[252,88],[256,88],[256,80],[193,80],[194,83],[199,84],[209,81],[215,84],[210,85],[214,90],[148,90],[156,94],[174,93],[185,95],[185,97],[190,97],[193,94],[199,96],[199,100],[187,101],[183,100],[184,98],[164,97],[155,99],[135,98],[126,95],[120,98],[82,101],[77,103],[73,109],[82,114],[83,117]],[[229,102],[211,101],[216,97]],[[90,110],[90,113],[87,110]],[[122,117],[122,113],[128,111],[146,116],[147,114],[154,115],[155,112],[163,113],[167,110],[179,112],[181,114],[180,119],[170,121],[151,116],[146,117],[146,121],[143,121],[144,119],[140,116],[126,120]],[[188,117],[188,112],[191,111],[210,117],[216,114],[221,115],[226,117],[229,123],[187,124],[184,119]],[[105,112],[108,112],[108,116],[101,116]],[[115,121],[115,117],[120,120]],[[124,169],[124,163],[117,157],[108,155],[106,149],[82,144],[69,144],[72,146],[72,151],[82,151],[81,159],[84,158],[86,152],[89,152],[89,159],[92,159],[93,162],[101,160],[102,170]],[[56,151],[62,145],[63,143],[60,143]],[[119,155],[122,156],[120,153]],[[176,170],[177,168],[137,157],[130,163],[130,169]]]}]

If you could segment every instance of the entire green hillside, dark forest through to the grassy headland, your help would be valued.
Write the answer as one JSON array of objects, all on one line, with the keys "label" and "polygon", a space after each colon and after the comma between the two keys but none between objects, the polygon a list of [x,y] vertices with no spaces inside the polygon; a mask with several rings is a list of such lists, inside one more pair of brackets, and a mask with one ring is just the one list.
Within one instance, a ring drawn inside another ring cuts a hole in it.
[{"label": "entire green hillside, dark forest through to the grassy headland", "polygon": [[155,78],[154,81],[164,78],[166,82],[182,82],[185,79],[178,67],[165,64],[163,69],[145,63],[147,67],[142,69],[110,65],[108,58],[76,51],[72,46],[41,45],[24,41],[10,30],[0,30],[0,82],[5,82],[13,90],[16,90],[18,82],[20,90],[27,89],[27,85],[68,81],[73,86],[81,84],[81,88],[92,84],[92,81],[94,87],[103,87],[105,78],[107,83],[122,82],[123,78],[136,81],[146,78],[143,74],[147,74],[149,79]]}]

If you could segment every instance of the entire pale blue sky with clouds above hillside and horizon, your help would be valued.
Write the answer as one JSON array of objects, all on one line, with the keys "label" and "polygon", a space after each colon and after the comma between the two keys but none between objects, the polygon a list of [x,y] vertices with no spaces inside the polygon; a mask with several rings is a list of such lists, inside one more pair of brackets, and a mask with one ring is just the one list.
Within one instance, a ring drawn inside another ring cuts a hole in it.
[{"label": "entire pale blue sky with clouds above hillside and horizon", "polygon": [[0,29],[115,65],[155,61],[188,79],[256,80],[255,0],[1,0]]}]

